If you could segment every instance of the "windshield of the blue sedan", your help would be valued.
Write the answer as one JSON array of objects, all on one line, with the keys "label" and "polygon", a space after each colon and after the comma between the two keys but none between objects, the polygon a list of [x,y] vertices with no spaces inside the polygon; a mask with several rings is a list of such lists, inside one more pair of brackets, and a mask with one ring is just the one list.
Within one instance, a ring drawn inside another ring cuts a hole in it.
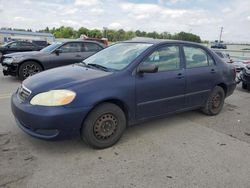
[{"label": "windshield of the blue sedan", "polygon": [[122,70],[150,46],[152,44],[118,43],[85,59],[84,63],[110,70]]}]

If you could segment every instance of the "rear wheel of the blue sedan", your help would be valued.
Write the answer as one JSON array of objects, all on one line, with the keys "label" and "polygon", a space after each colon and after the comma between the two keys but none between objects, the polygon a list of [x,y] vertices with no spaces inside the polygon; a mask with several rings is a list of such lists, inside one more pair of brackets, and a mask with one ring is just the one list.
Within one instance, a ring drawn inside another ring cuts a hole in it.
[{"label": "rear wheel of the blue sedan", "polygon": [[225,91],[222,87],[216,86],[209,95],[202,112],[214,116],[220,113],[225,100]]}]

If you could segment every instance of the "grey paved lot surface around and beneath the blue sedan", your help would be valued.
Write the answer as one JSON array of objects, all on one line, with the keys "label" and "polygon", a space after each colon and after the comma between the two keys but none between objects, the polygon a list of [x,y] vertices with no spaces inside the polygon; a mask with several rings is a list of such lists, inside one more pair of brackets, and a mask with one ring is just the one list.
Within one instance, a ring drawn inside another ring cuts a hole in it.
[{"label": "grey paved lot surface around and beneath the blue sedan", "polygon": [[173,115],[93,150],[23,133],[10,110],[19,84],[0,76],[0,187],[250,187],[250,93],[240,87],[218,116]]}]

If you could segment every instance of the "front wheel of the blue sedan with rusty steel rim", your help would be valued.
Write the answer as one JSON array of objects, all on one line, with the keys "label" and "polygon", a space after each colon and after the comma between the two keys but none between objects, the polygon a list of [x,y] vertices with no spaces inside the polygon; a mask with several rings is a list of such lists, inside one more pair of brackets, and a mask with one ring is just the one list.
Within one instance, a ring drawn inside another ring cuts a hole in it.
[{"label": "front wheel of the blue sedan with rusty steel rim", "polygon": [[104,149],[114,145],[126,128],[126,117],[117,105],[103,103],[90,112],[81,129],[82,139],[91,147]]}]

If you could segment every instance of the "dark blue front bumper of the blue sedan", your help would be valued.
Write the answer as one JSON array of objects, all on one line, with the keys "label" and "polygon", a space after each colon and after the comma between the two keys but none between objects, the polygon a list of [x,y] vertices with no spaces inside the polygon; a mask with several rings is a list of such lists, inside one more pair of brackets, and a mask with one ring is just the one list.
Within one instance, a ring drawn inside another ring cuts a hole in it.
[{"label": "dark blue front bumper of the blue sedan", "polygon": [[11,97],[11,109],[18,126],[27,134],[46,140],[68,139],[80,135],[90,108],[44,107],[23,103]]}]

